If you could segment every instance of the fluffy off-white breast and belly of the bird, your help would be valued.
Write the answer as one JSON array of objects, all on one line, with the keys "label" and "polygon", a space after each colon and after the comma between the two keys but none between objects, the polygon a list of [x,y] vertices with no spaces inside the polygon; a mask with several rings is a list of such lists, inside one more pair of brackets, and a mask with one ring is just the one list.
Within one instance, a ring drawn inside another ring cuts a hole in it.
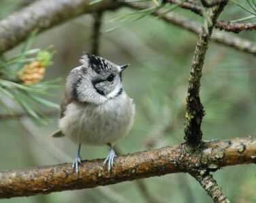
[{"label": "fluffy off-white breast and belly of the bird", "polygon": [[130,131],[134,112],[132,99],[125,92],[98,106],[73,102],[67,106],[59,127],[74,143],[113,145]]}]

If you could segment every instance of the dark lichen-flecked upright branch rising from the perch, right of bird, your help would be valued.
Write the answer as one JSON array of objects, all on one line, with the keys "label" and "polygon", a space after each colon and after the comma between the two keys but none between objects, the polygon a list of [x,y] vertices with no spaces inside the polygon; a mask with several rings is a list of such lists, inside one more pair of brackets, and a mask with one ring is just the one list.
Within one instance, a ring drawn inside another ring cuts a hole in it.
[{"label": "dark lichen-flecked upright branch rising from the perch, right of bird", "polygon": [[221,14],[225,3],[221,3],[210,9],[206,16],[207,28],[202,26],[194,58],[192,60],[189,85],[187,90],[187,108],[185,112],[185,137],[184,139],[191,145],[198,145],[202,139],[201,122],[204,116],[204,107],[200,101],[200,78],[202,76],[202,67],[204,66],[204,58],[208,49],[213,27],[217,22],[219,14]]}]

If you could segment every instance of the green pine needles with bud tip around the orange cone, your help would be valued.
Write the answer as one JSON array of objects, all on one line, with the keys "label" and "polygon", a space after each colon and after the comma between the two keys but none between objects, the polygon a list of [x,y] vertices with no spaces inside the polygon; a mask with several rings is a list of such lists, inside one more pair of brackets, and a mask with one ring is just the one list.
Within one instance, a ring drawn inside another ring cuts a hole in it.
[{"label": "green pine needles with bud tip around the orange cone", "polygon": [[49,89],[60,88],[55,85],[61,78],[51,81],[43,81],[33,85],[26,85],[20,81],[20,70],[31,62],[39,61],[42,66],[52,65],[52,57],[56,51],[51,51],[53,46],[46,49],[31,49],[33,39],[37,30],[33,31],[28,37],[20,53],[6,58],[0,58],[0,104],[9,113],[14,115],[13,106],[7,104],[8,98],[15,101],[24,112],[40,125],[46,125],[48,118],[43,114],[40,107],[58,109],[58,104],[44,99],[44,96],[54,97],[49,93]]}]

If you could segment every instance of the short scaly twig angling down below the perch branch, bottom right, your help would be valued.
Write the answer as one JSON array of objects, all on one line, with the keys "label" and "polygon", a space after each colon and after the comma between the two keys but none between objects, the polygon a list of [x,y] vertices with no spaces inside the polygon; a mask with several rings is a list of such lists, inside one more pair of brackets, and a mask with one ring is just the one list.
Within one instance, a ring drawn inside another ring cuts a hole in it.
[{"label": "short scaly twig angling down below the perch branch, bottom right", "polygon": [[194,171],[193,173],[190,173],[190,175],[193,176],[200,183],[200,185],[207,192],[208,196],[211,196],[211,198],[213,198],[214,202],[230,202],[230,200],[228,200],[223,194],[223,191],[221,191],[221,187],[217,185],[217,182],[213,178],[213,175],[209,174],[206,171]]}]

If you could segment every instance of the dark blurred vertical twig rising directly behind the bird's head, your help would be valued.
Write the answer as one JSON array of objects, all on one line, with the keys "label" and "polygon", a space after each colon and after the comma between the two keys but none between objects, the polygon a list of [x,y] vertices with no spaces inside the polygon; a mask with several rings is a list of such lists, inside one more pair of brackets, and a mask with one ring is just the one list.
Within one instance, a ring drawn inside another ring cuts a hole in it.
[{"label": "dark blurred vertical twig rising directly behind the bird's head", "polygon": [[100,41],[100,27],[103,18],[103,12],[96,12],[94,15],[94,24],[92,32],[92,54],[98,55]]}]

